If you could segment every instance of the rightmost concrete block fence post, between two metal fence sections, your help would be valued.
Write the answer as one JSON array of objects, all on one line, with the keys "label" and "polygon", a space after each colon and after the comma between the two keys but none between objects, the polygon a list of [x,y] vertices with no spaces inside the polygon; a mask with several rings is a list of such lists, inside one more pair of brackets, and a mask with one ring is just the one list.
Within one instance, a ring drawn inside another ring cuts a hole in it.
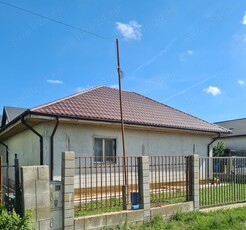
[{"label": "rightmost concrete block fence post, between two metal fence sections", "polygon": [[199,155],[194,154],[191,156],[192,163],[191,163],[191,172],[192,172],[192,200],[193,200],[193,207],[195,211],[199,210]]}]

